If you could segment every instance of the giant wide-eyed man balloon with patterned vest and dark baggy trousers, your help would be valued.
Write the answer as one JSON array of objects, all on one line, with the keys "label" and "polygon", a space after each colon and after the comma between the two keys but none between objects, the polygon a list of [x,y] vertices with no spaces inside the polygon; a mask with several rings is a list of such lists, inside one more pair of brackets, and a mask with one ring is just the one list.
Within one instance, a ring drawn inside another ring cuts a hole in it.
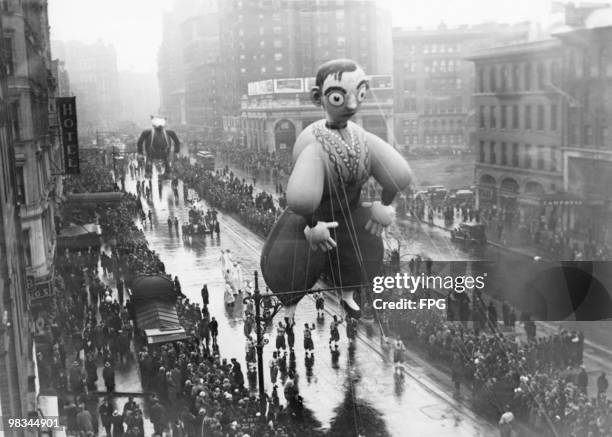
[{"label": "giant wide-eyed man balloon with patterned vest and dark baggy trousers", "polygon": [[[368,91],[357,63],[323,64],[315,85],[311,99],[326,118],[306,127],[295,142],[288,208],[264,245],[261,270],[288,317],[325,275],[341,290],[347,315],[358,318],[353,292],[380,274],[381,233],[393,221],[390,205],[412,172],[390,144],[350,121]],[[382,199],[364,206],[361,188],[371,176],[382,186]]]}]

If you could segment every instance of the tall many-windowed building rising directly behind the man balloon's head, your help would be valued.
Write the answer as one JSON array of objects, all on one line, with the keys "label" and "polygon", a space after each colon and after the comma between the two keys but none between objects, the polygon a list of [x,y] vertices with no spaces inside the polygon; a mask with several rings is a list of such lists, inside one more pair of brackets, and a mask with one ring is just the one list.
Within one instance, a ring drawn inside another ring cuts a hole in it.
[{"label": "tall many-windowed building rising directly behind the man balloon's head", "polygon": [[228,0],[219,13],[226,115],[237,114],[249,82],[310,77],[334,58],[391,74],[391,19],[373,0]]}]

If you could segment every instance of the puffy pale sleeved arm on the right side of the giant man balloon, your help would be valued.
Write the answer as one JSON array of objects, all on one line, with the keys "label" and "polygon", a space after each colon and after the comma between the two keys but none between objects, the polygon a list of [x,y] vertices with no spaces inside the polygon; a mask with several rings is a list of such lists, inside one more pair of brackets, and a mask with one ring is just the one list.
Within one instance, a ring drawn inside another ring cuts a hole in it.
[{"label": "puffy pale sleeved arm on the right side of the giant man balloon", "polygon": [[389,143],[371,133],[367,133],[366,136],[371,156],[372,176],[383,188],[383,203],[390,204],[395,193],[402,191],[412,182],[412,170],[404,157]]}]

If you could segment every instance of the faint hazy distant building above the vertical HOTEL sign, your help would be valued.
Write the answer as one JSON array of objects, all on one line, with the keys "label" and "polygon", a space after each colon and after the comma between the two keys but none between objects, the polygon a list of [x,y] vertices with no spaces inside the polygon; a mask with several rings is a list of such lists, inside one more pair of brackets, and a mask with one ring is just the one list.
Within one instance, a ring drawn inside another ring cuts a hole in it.
[{"label": "faint hazy distant building above the vertical HOTEL sign", "polygon": [[54,41],[54,56],[63,60],[76,96],[80,134],[112,130],[121,114],[117,53],[101,41]]}]

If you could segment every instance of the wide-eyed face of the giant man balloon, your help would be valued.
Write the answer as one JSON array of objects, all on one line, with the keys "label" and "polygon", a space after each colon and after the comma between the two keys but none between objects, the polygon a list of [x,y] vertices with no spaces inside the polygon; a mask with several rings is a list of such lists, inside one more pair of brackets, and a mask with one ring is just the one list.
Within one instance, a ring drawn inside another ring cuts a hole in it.
[{"label": "wide-eyed face of the giant man balloon", "polygon": [[365,72],[358,67],[345,71],[338,80],[335,75],[327,76],[321,87],[321,104],[334,123],[345,123],[355,115],[364,101],[368,90]]}]

